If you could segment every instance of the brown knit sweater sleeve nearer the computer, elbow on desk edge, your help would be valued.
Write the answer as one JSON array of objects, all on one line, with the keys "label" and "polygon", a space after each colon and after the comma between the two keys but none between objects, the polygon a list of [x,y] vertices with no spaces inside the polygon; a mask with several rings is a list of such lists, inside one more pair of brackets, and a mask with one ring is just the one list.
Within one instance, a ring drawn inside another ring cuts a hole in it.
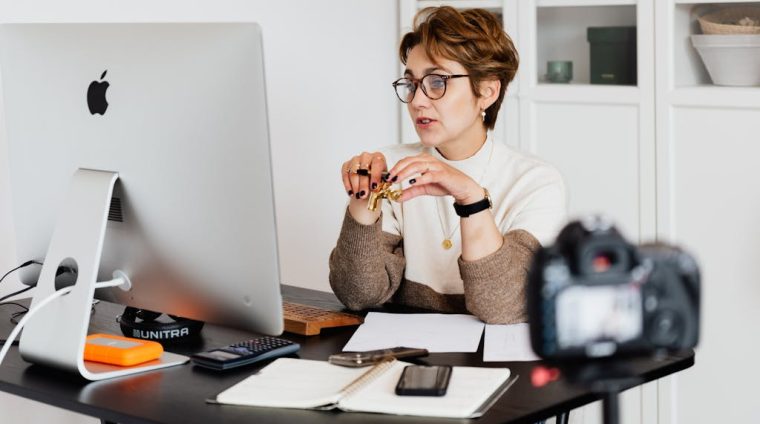
[{"label": "brown knit sweater sleeve nearer the computer, elbow on desk edge", "polygon": [[330,287],[349,309],[377,307],[398,290],[406,260],[401,236],[354,220],[348,208],[338,243],[330,254]]}]

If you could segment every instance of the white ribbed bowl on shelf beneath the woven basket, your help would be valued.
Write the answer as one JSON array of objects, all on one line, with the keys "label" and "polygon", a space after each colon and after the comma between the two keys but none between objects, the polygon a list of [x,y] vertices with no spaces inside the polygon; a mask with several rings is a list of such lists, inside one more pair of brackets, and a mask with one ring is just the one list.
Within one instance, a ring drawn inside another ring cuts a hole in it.
[{"label": "white ribbed bowl on shelf beneath the woven basket", "polygon": [[696,34],[691,43],[715,85],[760,86],[760,35]]}]

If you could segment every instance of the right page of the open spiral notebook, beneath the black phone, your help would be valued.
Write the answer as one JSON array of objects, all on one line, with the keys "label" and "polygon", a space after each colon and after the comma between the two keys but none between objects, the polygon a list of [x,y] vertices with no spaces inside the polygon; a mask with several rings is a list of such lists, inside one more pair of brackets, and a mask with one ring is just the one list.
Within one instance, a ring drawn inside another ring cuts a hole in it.
[{"label": "right page of the open spiral notebook, beneath the black phone", "polygon": [[376,380],[341,399],[345,411],[427,417],[468,418],[509,378],[508,368],[454,367],[445,396],[397,396],[396,383],[407,363],[394,366]]}]

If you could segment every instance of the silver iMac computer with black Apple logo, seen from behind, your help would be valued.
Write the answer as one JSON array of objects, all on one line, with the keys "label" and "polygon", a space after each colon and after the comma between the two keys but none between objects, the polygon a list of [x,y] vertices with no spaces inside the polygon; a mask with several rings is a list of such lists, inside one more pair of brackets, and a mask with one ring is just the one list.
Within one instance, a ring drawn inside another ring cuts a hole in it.
[{"label": "silver iMac computer with black Apple logo, seen from behind", "polygon": [[282,332],[263,60],[254,23],[0,25],[16,252],[44,262],[21,275],[32,306],[76,271],[24,359],[120,375],[82,362],[94,297]]}]

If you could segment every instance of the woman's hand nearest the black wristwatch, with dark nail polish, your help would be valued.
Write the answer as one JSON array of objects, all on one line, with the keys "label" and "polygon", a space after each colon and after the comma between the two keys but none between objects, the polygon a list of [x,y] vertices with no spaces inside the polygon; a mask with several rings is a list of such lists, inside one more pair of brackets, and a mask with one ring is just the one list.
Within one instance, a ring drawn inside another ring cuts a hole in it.
[{"label": "woman's hand nearest the black wristwatch, with dark nail polish", "polygon": [[454,197],[460,205],[467,205],[483,199],[483,188],[467,174],[436,159],[428,153],[420,153],[401,159],[391,168],[392,182],[408,178],[410,186],[398,199],[401,202],[417,196]]}]

